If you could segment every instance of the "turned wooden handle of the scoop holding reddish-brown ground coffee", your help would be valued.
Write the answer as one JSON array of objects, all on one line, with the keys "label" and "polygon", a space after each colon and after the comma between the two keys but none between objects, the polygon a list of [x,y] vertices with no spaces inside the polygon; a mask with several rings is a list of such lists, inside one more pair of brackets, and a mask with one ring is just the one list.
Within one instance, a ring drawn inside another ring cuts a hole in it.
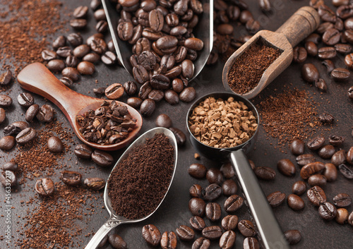
[{"label": "turned wooden handle of the scoop holding reddish-brown ground coffee", "polygon": [[292,47],[295,47],[314,32],[319,24],[318,11],[310,6],[304,6],[299,8],[276,32],[285,35]]}]

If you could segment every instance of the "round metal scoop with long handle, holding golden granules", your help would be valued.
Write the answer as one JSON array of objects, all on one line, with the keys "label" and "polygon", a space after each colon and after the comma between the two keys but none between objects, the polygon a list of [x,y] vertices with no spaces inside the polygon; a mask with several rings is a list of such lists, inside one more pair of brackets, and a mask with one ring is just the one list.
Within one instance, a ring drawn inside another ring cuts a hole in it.
[{"label": "round metal scoop with long handle, holding golden granules", "polygon": [[[188,111],[186,123],[189,124],[189,117],[193,109],[208,97],[215,97],[215,99],[228,99],[229,97],[233,97],[236,101],[244,102],[244,104],[249,107],[249,111],[253,111],[253,115],[256,116],[256,119],[259,123],[258,111],[253,106],[253,104],[248,99],[229,92],[214,92],[196,100],[196,102],[190,107]],[[232,162],[239,184],[241,185],[245,195],[246,205],[248,205],[253,220],[255,221],[258,235],[260,236],[260,242],[263,244],[263,248],[289,249],[289,245],[285,240],[285,236],[280,229],[280,225],[278,224],[275,215],[273,214],[273,210],[268,204],[268,200],[265,198],[265,194],[263,193],[263,190],[258,183],[258,179],[253,173],[253,169],[251,169],[249,161],[246,158],[245,153],[249,152],[255,144],[256,137],[258,135],[258,128],[247,142],[227,149],[215,148],[205,145],[193,136],[189,125],[188,130],[190,133],[191,144],[194,148],[196,148],[196,150],[198,150],[198,152],[203,154],[205,157],[208,157],[209,159],[215,160],[217,162],[225,162],[229,160]]]}]

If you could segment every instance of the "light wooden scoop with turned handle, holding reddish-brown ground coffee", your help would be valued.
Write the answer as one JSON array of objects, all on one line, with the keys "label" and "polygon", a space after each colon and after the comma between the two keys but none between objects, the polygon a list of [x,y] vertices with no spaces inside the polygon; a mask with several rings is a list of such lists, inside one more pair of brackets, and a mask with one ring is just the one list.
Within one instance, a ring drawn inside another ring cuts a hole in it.
[{"label": "light wooden scoop with turned handle, holding reddish-brown ground coffee", "polygon": [[[265,70],[258,85],[249,92],[243,94],[246,99],[251,99],[258,95],[268,84],[270,84],[280,73],[285,71],[293,59],[293,47],[297,46],[301,40],[304,40],[311,32],[315,31],[320,24],[318,12],[309,6],[299,8],[276,32],[261,30],[251,39],[243,44],[237,51],[229,57],[223,68],[222,81],[226,90],[229,87],[228,74],[241,54],[256,42],[262,42],[269,47],[275,47],[282,51],[282,54]],[[233,92],[233,91],[232,91]],[[237,94],[237,92],[234,92]]]}]

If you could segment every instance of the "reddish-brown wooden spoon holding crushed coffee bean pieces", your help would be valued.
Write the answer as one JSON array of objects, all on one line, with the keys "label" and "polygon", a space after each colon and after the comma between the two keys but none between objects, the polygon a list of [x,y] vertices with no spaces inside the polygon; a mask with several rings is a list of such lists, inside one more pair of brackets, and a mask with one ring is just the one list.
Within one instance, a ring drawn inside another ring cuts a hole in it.
[{"label": "reddish-brown wooden spoon holding crushed coffee bean pieces", "polygon": [[117,102],[118,104],[124,105],[128,108],[128,112],[134,119],[136,119],[136,127],[133,128],[131,133],[128,133],[128,138],[113,145],[100,145],[95,142],[88,142],[85,140],[82,133],[80,133],[80,126],[76,122],[76,116],[83,115],[85,111],[88,111],[89,109],[95,110],[99,108],[104,100],[111,100],[97,99],[94,97],[81,95],[80,93],[71,90],[66,87],[66,85],[61,83],[46,66],[38,62],[32,63],[23,68],[23,70],[18,73],[17,80],[23,89],[34,92],[37,95],[41,95],[56,104],[56,106],[59,107],[59,109],[61,109],[61,111],[65,114],[78,138],[80,138],[82,142],[85,142],[85,144],[96,149],[121,149],[129,142],[132,142],[133,138],[137,135],[142,126],[142,118],[136,109],[133,109],[123,102]]}]

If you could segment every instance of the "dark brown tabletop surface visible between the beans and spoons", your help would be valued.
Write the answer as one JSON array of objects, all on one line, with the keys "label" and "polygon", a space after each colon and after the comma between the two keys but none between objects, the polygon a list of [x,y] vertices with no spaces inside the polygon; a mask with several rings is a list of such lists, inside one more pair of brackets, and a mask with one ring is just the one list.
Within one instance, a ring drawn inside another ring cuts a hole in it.
[{"label": "dark brown tabletop surface visible between the beans and spoons", "polygon": [[[68,1],[64,0],[64,8],[67,8],[68,12],[73,11],[74,8],[83,4],[89,4],[90,1],[86,0],[77,0],[77,1]],[[253,15],[256,19],[261,20],[261,25],[264,29],[268,30],[276,30],[280,27],[280,24],[283,23],[289,16],[297,10],[297,8],[304,6],[309,3],[309,1],[288,1],[288,0],[275,0],[273,2],[277,7],[277,11],[273,13],[273,15],[265,16],[258,8],[258,4],[256,0],[247,1],[250,6],[250,10],[253,12]],[[325,1],[330,5],[330,1]],[[63,9],[64,9],[63,8]],[[48,17],[49,18],[49,17]],[[92,17],[92,11],[89,14],[89,28],[87,28],[84,32],[82,32],[83,37],[87,38],[95,32],[95,20]],[[71,32],[72,30],[70,30]],[[239,28],[236,29],[237,36],[239,36]],[[68,32],[61,32],[57,35],[68,35]],[[335,59],[336,66],[344,67],[343,57],[340,56]],[[255,103],[261,101],[261,99],[265,99],[271,95],[275,95],[277,92],[282,91],[282,86],[287,85],[290,88],[298,87],[299,89],[305,89],[309,92],[309,94],[313,97],[313,99],[320,103],[318,106],[318,112],[328,112],[335,116],[335,124],[333,125],[333,129],[331,131],[325,130],[326,126],[322,126],[317,130],[317,134],[323,133],[326,138],[331,133],[335,133],[337,135],[345,136],[346,141],[343,145],[343,148],[347,150],[350,146],[353,145],[353,140],[351,136],[352,130],[352,107],[353,102],[350,101],[347,97],[347,89],[349,86],[352,86],[352,77],[349,79],[347,83],[335,83],[333,80],[330,80],[328,75],[325,73],[325,68],[321,66],[321,63],[318,59],[309,58],[307,61],[313,61],[318,67],[318,70],[321,73],[321,77],[323,77],[328,83],[328,92],[325,94],[320,94],[315,87],[304,83],[304,81],[300,77],[300,65],[291,65],[287,70],[282,73],[271,85],[269,85],[266,90],[261,93],[256,99],[254,99]],[[223,63],[218,62],[216,66],[209,66],[205,68],[203,73],[193,80],[191,83],[192,86],[196,88],[196,92],[198,96],[204,95],[208,92],[221,91],[222,87],[222,66]],[[95,80],[98,80],[98,83],[95,83]],[[92,76],[84,76],[79,82],[80,84],[75,84],[73,89],[83,93],[85,95],[94,96],[92,93],[92,89],[94,87],[103,87],[112,83],[124,83],[127,80],[132,80],[132,77],[128,75],[123,68],[116,67],[107,67],[102,64],[98,65],[96,68],[96,73]],[[14,100],[13,107],[6,110],[7,120],[5,123],[0,125],[0,129],[3,129],[6,125],[12,123],[13,121],[24,120],[23,117],[23,109],[18,106],[16,102],[17,95],[22,92],[17,83],[13,84],[11,87],[10,96]],[[126,97],[122,99],[126,100]],[[40,96],[35,96],[35,102],[37,104],[44,104],[45,101]],[[157,105],[157,109],[154,114],[148,118],[144,119],[143,128],[140,131],[140,134],[145,132],[146,130],[155,127],[154,121],[157,115],[165,113],[168,114],[174,123],[174,126],[184,130],[186,133],[186,111],[191,104],[180,103],[177,106],[170,106],[166,102],[162,101]],[[64,122],[64,126],[68,126],[68,122],[66,121],[64,115],[56,108],[56,117],[59,121]],[[293,110],[295,111],[295,110]],[[35,123],[35,126],[39,126],[38,123]],[[1,132],[1,136],[3,133]],[[76,142],[78,140],[75,138]],[[260,134],[258,135],[258,141],[256,143],[256,149],[253,150],[249,154],[249,158],[255,162],[256,166],[270,166],[276,170],[277,176],[275,181],[260,181],[261,186],[266,195],[272,193],[273,191],[280,190],[286,195],[291,193],[292,183],[300,180],[300,176],[297,175],[294,178],[288,178],[282,176],[276,168],[277,161],[282,158],[289,158],[294,162],[295,157],[288,153],[283,154],[280,150],[275,149],[270,143],[273,145],[277,144],[277,140],[273,138],[268,138],[265,136],[265,132],[263,128],[260,128]],[[287,149],[285,149],[288,151]],[[124,238],[126,243],[128,244],[128,248],[149,248],[149,246],[143,241],[141,236],[141,228],[145,224],[155,224],[160,231],[163,233],[164,231],[175,231],[177,227],[181,224],[189,225],[189,218],[191,214],[188,209],[189,202],[189,187],[198,183],[201,186],[207,186],[208,183],[206,180],[198,181],[196,179],[191,178],[187,173],[188,166],[193,162],[201,162],[205,164],[208,168],[210,167],[219,167],[220,163],[211,162],[207,159],[202,158],[201,161],[197,161],[193,158],[193,154],[196,152],[189,140],[186,142],[184,147],[179,148],[179,159],[177,172],[174,178],[174,182],[172,183],[172,188],[169,190],[167,198],[165,198],[164,202],[160,206],[160,209],[155,212],[149,219],[140,222],[139,224],[131,224],[131,225],[122,225],[119,226],[115,231],[119,233],[119,235]],[[122,150],[118,152],[114,152],[115,159],[119,158],[119,155],[122,153]],[[0,158],[0,163],[3,164],[7,162],[9,159],[13,158],[16,154],[16,150],[13,149],[8,153],[0,152],[2,158]],[[75,164],[77,162],[77,164]],[[100,169],[99,166],[96,166],[93,162],[78,160],[73,155],[73,147],[71,147],[70,152],[66,152],[64,159],[59,161],[59,164],[64,165],[68,164],[71,166],[71,169],[82,171],[82,167],[86,170],[84,176],[97,176],[102,178],[107,178],[109,175],[108,169]],[[78,168],[81,169],[78,169]],[[53,177],[55,181],[59,181],[59,172],[57,172]],[[20,229],[21,225],[24,223],[23,219],[18,218],[18,216],[22,217],[25,215],[25,209],[27,207],[20,206],[20,200],[29,200],[30,197],[35,196],[34,191],[31,188],[34,186],[34,181],[29,181],[27,187],[23,190],[19,188],[18,193],[13,193],[13,236],[14,241],[17,241],[18,238],[21,238],[20,233],[16,232],[17,229]],[[353,181],[344,178],[342,174],[339,174],[337,181],[333,183],[328,183],[325,186],[325,193],[328,196],[328,200],[332,201],[332,198],[338,193],[348,193],[353,197]],[[239,194],[239,192],[238,192]],[[4,190],[0,190],[1,202],[0,209],[4,209]],[[309,203],[309,200],[306,198],[306,195],[303,196],[305,202],[305,208],[299,212],[293,211],[287,206],[287,203],[283,203],[280,207],[274,209],[275,216],[277,217],[283,231],[289,229],[298,229],[301,231],[302,239],[301,242],[297,245],[294,245],[293,248],[353,248],[353,240],[352,240],[352,232],[353,226],[349,226],[345,224],[344,226],[337,224],[335,221],[323,221],[321,217],[318,216],[317,207],[313,207]],[[222,197],[217,202],[221,205],[224,203],[225,198]],[[103,200],[99,198],[96,203],[97,207],[102,207]],[[37,206],[37,205],[35,205]],[[349,212],[352,212],[352,206],[347,208]],[[224,211],[223,211],[224,212]],[[1,211],[1,214],[3,212]],[[246,207],[242,207],[237,213],[239,219],[249,219],[249,213],[246,210]],[[83,224],[83,235],[79,237],[82,242],[80,243],[80,247],[88,243],[91,236],[85,236],[88,232],[97,231],[100,226],[107,219],[108,214],[106,210],[96,210],[95,215],[90,217],[88,220],[86,217],[84,221],[88,221],[88,224]],[[0,217],[0,221],[1,221]],[[206,224],[210,225],[210,221],[206,220]],[[0,223],[4,224],[3,221]],[[215,224],[220,224],[216,222]],[[270,226],[271,224],[268,224]],[[3,226],[1,225],[1,228]],[[1,230],[0,235],[3,234],[4,230]],[[198,238],[201,234],[197,233],[196,238]],[[236,248],[242,248],[243,236],[237,231],[237,245]],[[75,239],[76,241],[76,239]],[[185,243],[178,241],[178,248],[191,248],[192,243]],[[5,248],[4,241],[0,241],[0,248]],[[11,248],[15,248],[14,245]],[[107,248],[110,248],[109,246]],[[212,243],[212,248],[218,248],[217,243]]]}]

